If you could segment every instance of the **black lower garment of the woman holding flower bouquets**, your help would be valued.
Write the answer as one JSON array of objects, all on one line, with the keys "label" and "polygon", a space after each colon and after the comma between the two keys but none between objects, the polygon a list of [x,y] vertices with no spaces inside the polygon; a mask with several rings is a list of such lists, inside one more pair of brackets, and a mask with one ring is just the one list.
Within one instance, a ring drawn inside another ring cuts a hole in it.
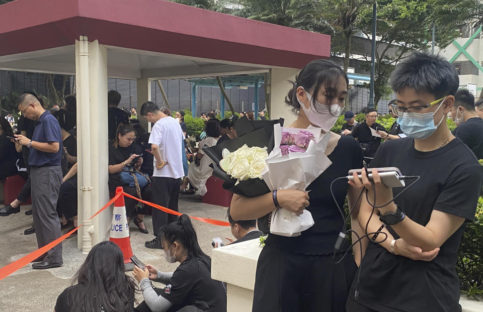
[{"label": "black lower garment of the woman holding flower bouquets", "polygon": [[253,312],[344,312],[356,272],[348,254],[305,255],[265,245],[258,258]]}]

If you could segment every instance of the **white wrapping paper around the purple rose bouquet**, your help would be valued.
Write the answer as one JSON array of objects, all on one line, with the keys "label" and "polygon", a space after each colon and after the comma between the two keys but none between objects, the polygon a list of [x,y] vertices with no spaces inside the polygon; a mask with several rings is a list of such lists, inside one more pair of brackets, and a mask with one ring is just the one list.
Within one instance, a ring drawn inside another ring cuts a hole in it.
[{"label": "white wrapping paper around the purple rose bouquet", "polygon": [[[314,139],[310,141],[304,153],[289,153],[282,155],[280,142],[282,131],[298,133],[299,130],[312,132]],[[267,167],[262,171],[262,177],[270,190],[297,189],[305,190],[332,162],[324,154],[331,134],[321,134],[320,128],[308,129],[282,128],[274,125],[275,147],[265,158]],[[299,236],[302,231],[313,226],[314,222],[309,211],[297,216],[285,209],[276,209],[272,212],[270,233],[281,236]]]}]

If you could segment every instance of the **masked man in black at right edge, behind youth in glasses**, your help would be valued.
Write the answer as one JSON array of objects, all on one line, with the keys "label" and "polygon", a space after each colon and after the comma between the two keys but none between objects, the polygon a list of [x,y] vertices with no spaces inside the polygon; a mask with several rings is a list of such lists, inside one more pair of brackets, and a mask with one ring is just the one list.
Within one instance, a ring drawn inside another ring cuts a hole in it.
[{"label": "masked man in black at right edge, behind youth in glasses", "polygon": [[483,158],[483,119],[474,110],[474,95],[467,89],[460,89],[454,94],[451,117],[458,127],[453,135],[469,147],[476,158]]}]

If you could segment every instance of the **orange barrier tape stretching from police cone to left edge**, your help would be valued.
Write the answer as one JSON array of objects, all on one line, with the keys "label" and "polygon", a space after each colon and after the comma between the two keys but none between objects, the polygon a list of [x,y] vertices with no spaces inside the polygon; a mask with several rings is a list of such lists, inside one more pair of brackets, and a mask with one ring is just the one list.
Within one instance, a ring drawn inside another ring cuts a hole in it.
[{"label": "orange barrier tape stretching from police cone to left edge", "polygon": [[[116,196],[114,196],[111,200],[109,200],[109,202],[106,203],[104,205],[104,207],[102,207],[101,210],[99,210],[94,216],[92,216],[91,218],[89,218],[89,220],[92,220],[94,217],[96,217],[97,215],[99,215],[107,207],[109,207],[111,204],[113,204],[114,201],[116,201],[116,199],[119,196],[121,196],[121,195],[122,195],[122,193],[116,194]],[[62,235],[61,237],[59,237],[55,241],[50,242],[47,245],[45,245],[45,246],[37,249],[36,251],[28,254],[27,256],[24,256],[24,257],[20,258],[19,260],[14,261],[14,262],[12,262],[12,263],[4,266],[3,268],[0,269],[0,280],[4,279],[5,277],[9,276],[13,272],[15,272],[18,269],[20,269],[20,268],[24,267],[25,265],[29,264],[31,261],[37,259],[38,257],[40,257],[41,255],[43,255],[44,253],[46,253],[50,249],[54,248],[57,244],[59,244],[60,242],[62,242],[63,240],[65,240],[67,237],[69,237],[70,234],[72,234],[75,231],[77,231],[83,225],[84,225],[84,223],[82,223],[81,225],[79,225],[78,227],[76,227],[75,229],[73,229],[72,231],[70,231],[69,233],[67,233],[65,235]]]}]

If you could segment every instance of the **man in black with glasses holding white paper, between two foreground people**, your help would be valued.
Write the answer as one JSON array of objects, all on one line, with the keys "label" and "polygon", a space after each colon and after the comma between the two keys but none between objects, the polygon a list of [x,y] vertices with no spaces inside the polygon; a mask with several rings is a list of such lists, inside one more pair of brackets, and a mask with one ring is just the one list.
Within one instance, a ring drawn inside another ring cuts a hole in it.
[{"label": "man in black with glasses holding white paper, between two foreground people", "polygon": [[365,113],[366,121],[357,124],[352,130],[351,136],[361,144],[364,160],[366,163],[370,163],[381,145],[381,137],[374,136],[374,133],[369,128],[374,129],[376,132],[385,129],[376,123],[377,112],[375,109],[367,108]]}]

